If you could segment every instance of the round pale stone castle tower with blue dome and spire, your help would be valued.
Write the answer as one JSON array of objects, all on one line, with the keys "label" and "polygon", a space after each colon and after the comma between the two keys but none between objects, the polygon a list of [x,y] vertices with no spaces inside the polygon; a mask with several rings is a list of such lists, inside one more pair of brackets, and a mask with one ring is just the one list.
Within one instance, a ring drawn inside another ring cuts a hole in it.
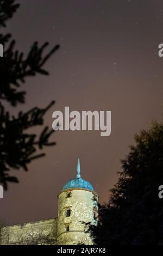
[{"label": "round pale stone castle tower with blue dome and spire", "polygon": [[85,223],[97,224],[97,193],[89,181],[80,176],[69,180],[58,195],[58,245],[92,245]]}]

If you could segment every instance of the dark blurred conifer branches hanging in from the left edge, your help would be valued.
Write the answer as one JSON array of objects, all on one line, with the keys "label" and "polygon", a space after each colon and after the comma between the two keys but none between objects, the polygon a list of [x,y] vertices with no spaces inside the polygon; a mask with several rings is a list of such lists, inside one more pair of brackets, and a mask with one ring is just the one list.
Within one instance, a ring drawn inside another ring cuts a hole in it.
[{"label": "dark blurred conifer branches hanging in from the left edge", "polygon": [[[6,26],[6,22],[18,7],[15,0],[0,0],[1,28]],[[28,163],[45,155],[38,154],[37,149],[55,143],[49,142],[54,131],[47,126],[37,136],[27,132],[28,128],[43,125],[44,115],[54,101],[43,109],[34,107],[26,113],[18,113],[17,116],[6,111],[5,102],[12,107],[25,103],[26,92],[20,90],[21,84],[28,76],[35,76],[37,73],[48,75],[43,66],[59,45],[44,54],[48,42],[41,47],[34,42],[28,56],[24,57],[22,52],[15,50],[15,41],[11,39],[11,34],[0,34],[0,44],[4,47],[3,57],[0,57],[0,183],[7,190],[8,182],[18,182],[15,176],[9,175],[11,169],[28,170]]]}]

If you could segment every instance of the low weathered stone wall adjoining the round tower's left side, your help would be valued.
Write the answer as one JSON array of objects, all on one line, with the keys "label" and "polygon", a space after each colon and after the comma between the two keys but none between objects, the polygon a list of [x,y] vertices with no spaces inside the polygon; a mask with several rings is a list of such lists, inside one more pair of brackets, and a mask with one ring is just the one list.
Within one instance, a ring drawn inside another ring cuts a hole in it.
[{"label": "low weathered stone wall adjoining the round tower's left side", "polygon": [[1,229],[1,245],[55,245],[57,218],[12,225]]}]

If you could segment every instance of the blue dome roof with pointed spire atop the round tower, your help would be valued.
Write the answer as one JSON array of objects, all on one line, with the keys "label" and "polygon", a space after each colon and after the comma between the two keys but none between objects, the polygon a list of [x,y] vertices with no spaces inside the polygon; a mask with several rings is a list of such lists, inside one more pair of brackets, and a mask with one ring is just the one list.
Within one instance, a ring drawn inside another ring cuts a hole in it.
[{"label": "blue dome roof with pointed spire atop the round tower", "polygon": [[67,190],[68,188],[73,188],[73,187],[79,187],[79,188],[86,188],[87,190],[94,191],[92,185],[90,184],[89,181],[84,180],[80,176],[80,161],[78,159],[78,167],[77,167],[77,178],[69,180],[64,186],[63,190]]}]

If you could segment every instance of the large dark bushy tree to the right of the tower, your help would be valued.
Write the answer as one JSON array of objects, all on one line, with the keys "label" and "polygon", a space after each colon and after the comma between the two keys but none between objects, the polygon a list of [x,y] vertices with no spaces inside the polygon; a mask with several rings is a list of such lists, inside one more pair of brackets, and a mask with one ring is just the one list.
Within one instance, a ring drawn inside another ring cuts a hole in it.
[{"label": "large dark bushy tree to the right of the tower", "polygon": [[122,160],[122,171],[109,203],[99,208],[97,227],[91,227],[97,245],[162,245],[163,123],[135,136]]}]

